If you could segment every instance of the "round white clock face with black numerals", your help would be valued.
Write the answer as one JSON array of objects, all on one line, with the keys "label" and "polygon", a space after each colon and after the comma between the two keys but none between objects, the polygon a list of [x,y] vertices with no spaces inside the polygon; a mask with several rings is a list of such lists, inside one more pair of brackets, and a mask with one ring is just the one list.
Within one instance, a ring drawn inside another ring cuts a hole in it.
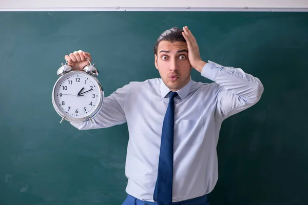
[{"label": "round white clock face with black numerals", "polygon": [[71,71],[57,81],[54,106],[69,118],[85,118],[99,107],[101,87],[97,80],[83,71]]}]

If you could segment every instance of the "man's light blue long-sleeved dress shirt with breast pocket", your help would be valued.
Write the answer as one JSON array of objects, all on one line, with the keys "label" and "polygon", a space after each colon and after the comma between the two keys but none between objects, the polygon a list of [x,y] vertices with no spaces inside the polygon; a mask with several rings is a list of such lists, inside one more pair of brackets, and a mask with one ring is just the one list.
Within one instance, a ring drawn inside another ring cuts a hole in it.
[{"label": "man's light blue long-sleeved dress shirt with breast pocket", "polygon": [[[214,83],[190,79],[175,98],[174,202],[208,194],[214,189],[218,179],[216,147],[222,121],[256,104],[263,93],[260,80],[239,68],[208,61],[201,75]],[[153,202],[169,91],[161,78],[132,82],[105,98],[93,124],[71,122],[80,130],[127,122],[126,192],[141,200]]]}]

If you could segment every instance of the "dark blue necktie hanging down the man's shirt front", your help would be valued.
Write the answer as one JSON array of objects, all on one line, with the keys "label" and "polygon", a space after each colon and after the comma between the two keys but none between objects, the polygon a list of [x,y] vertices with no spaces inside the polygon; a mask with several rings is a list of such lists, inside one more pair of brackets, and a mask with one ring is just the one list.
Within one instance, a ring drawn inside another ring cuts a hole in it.
[{"label": "dark blue necktie hanging down the man's shirt front", "polygon": [[172,177],[174,154],[174,124],[176,92],[169,92],[169,104],[163,122],[161,147],[158,162],[158,175],[153,199],[158,205],[172,203]]}]

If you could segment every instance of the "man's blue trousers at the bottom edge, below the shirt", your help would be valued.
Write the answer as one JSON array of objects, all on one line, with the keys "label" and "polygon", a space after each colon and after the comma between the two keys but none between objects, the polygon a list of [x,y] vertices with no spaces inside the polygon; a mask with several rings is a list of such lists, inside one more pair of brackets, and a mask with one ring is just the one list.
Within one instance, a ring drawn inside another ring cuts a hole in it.
[{"label": "man's blue trousers at the bottom edge, below the shirt", "polygon": [[[131,195],[127,195],[122,205],[157,205],[156,202],[142,201]],[[206,195],[188,199],[185,201],[173,202],[172,205],[209,205]]]}]

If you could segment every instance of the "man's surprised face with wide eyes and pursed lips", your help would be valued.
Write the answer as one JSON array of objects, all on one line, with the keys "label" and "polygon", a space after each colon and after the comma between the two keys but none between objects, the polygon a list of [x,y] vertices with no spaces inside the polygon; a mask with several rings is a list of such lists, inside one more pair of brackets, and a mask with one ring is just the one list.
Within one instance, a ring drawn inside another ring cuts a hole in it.
[{"label": "man's surprised face with wide eyes and pursed lips", "polygon": [[183,88],[189,82],[191,72],[187,44],[162,40],[155,54],[155,67],[171,91]]}]

